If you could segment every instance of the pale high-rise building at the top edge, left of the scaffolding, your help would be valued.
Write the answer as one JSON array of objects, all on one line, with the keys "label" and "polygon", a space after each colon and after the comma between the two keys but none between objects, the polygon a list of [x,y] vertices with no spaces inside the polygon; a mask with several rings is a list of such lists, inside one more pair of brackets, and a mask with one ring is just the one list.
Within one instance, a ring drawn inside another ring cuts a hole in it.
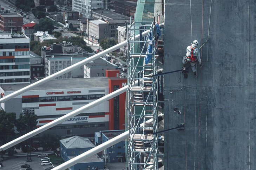
[{"label": "pale high-rise building at the top edge, left of the scaffolding", "polygon": [[78,11],[80,15],[86,18],[92,17],[93,9],[106,9],[107,0],[73,0],[72,10]]}]

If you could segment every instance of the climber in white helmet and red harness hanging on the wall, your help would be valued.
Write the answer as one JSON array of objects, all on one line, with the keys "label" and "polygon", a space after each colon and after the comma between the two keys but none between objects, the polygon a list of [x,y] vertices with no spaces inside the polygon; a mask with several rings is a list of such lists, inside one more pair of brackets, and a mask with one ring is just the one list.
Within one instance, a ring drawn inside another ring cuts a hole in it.
[{"label": "climber in white helmet and red harness hanging on the wall", "polygon": [[195,78],[197,78],[196,75],[196,63],[199,62],[200,68],[202,68],[202,61],[200,57],[199,49],[197,48],[198,41],[194,40],[191,45],[187,47],[186,56],[183,57],[182,63],[183,63],[183,70],[186,70],[186,64],[189,62],[191,65],[191,69],[194,73]]}]

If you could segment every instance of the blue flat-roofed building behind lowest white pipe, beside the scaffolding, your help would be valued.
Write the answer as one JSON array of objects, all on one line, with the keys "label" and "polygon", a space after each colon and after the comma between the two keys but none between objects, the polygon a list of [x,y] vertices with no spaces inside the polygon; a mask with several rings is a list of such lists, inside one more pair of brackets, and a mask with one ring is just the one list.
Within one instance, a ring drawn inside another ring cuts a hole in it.
[{"label": "blue flat-roofed building behind lowest white pipe, beside the scaffolding", "polygon": [[[103,130],[96,132],[94,133],[95,145],[98,146],[99,144],[104,143],[124,132],[125,130]],[[125,140],[104,150],[102,158],[109,163],[125,162]]]}]

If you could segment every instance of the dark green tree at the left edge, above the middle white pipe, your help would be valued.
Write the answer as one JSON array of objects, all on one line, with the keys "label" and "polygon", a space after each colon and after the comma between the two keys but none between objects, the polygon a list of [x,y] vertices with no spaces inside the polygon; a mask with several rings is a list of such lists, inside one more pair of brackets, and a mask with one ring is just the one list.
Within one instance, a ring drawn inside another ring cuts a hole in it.
[{"label": "dark green tree at the left edge, above the middle white pipe", "polygon": [[0,145],[5,144],[15,138],[15,121],[15,113],[6,113],[3,109],[0,110]]}]

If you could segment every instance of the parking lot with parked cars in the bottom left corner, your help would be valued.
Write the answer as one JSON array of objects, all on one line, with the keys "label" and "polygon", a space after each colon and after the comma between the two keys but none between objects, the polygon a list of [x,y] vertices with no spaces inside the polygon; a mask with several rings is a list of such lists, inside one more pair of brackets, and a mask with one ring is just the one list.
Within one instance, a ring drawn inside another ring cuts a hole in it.
[{"label": "parking lot with parked cars in the bottom left corner", "polygon": [[37,156],[32,156],[32,162],[26,162],[26,157],[18,157],[18,158],[10,158],[6,161],[3,161],[2,170],[25,170],[25,168],[21,168],[21,165],[28,164],[33,170],[44,170],[48,167],[53,167],[53,165],[41,165],[41,158]]}]

